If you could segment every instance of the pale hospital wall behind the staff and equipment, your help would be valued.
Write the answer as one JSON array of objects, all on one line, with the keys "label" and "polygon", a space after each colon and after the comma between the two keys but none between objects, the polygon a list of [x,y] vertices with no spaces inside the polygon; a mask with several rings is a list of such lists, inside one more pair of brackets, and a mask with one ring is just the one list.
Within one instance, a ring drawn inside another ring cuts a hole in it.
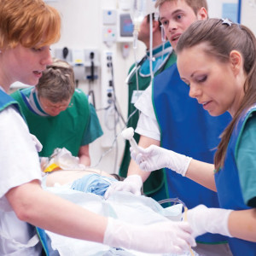
[{"label": "pale hospital wall behind the staff and equipment", "polygon": [[[95,97],[97,114],[104,131],[104,135],[90,145],[92,166],[106,172],[117,173],[125,145],[119,133],[125,124],[121,119],[113,119],[115,113],[113,109],[108,108],[108,102],[106,102],[109,82],[106,54],[112,55],[114,94],[120,109],[119,114],[127,120],[128,87],[125,84],[125,78],[135,59],[139,60],[144,55],[145,47],[142,43],[138,43],[135,58],[131,41],[113,42],[109,45],[103,42],[104,32],[102,29],[105,25],[103,25],[102,11],[104,9],[119,9],[119,1],[117,0],[49,0],[46,2],[61,12],[63,20],[61,40],[52,46],[53,55],[55,55],[55,49],[63,49],[64,47],[68,49],[91,49],[96,52],[95,74],[97,78],[94,81],[79,79],[78,87],[84,90],[86,94],[93,92],[90,95]],[[241,23],[250,26],[255,32],[256,8],[250,6],[252,2],[249,0],[242,1]],[[237,1],[208,0],[210,17],[221,18],[224,3],[237,3]],[[225,11],[232,11],[232,8]],[[128,49],[125,49],[125,53],[128,53],[126,57],[123,56],[125,44],[128,46]],[[80,70],[82,69],[80,68]],[[117,137],[116,142],[114,142],[114,137]]]}]

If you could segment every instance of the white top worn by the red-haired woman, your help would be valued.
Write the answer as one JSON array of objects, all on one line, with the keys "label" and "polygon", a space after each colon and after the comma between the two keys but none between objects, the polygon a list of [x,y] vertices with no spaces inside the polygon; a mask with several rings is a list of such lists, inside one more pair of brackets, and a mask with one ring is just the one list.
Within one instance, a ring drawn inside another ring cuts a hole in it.
[{"label": "white top worn by the red-haired woman", "polygon": [[26,123],[13,106],[0,112],[0,142],[0,255],[40,255],[37,236],[37,246],[26,247],[36,234],[35,228],[16,217],[5,197],[9,189],[41,180],[38,152]]}]

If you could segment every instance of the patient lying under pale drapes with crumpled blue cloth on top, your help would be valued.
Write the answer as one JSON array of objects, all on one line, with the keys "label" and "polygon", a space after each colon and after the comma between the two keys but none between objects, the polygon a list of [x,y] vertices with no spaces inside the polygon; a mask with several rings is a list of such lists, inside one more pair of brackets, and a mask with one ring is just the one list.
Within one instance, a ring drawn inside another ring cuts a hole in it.
[{"label": "patient lying under pale drapes with crumpled blue cloth on top", "polygon": [[[171,219],[181,219],[183,204],[178,203],[172,207],[161,207],[160,203],[144,195],[133,195],[129,192],[116,192],[105,200],[103,195],[110,183],[116,180],[106,172],[86,168],[79,170],[79,163],[66,148],[56,151],[49,165],[67,167],[68,170],[47,172],[43,177],[42,186],[45,190],[84,207],[91,212],[96,212],[106,217],[119,218],[129,224],[153,224]],[[67,165],[68,164],[68,165]],[[72,170],[75,167],[76,170]],[[104,190],[105,189],[105,190]],[[86,221],[81,219],[81,221]],[[46,230],[51,247],[61,256],[175,256],[175,254],[150,254],[139,253],[122,248],[113,248],[93,241],[83,241],[67,236],[57,235]],[[191,253],[183,253],[191,255]],[[198,255],[194,252],[194,255]],[[193,255],[193,256],[194,256]],[[55,256],[52,254],[50,256]]]}]

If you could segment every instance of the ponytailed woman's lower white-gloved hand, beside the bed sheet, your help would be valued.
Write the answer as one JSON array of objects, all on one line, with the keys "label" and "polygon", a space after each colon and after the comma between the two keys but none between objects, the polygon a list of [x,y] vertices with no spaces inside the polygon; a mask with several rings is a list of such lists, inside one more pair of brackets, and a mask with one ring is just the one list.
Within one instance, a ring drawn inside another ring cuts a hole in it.
[{"label": "ponytailed woman's lower white-gloved hand, beside the bed sheet", "polygon": [[220,208],[207,208],[203,205],[199,205],[187,213],[187,221],[192,227],[192,236],[201,236],[207,232],[212,234],[220,234],[224,236],[230,236],[228,228],[228,220],[232,210],[220,209]]}]

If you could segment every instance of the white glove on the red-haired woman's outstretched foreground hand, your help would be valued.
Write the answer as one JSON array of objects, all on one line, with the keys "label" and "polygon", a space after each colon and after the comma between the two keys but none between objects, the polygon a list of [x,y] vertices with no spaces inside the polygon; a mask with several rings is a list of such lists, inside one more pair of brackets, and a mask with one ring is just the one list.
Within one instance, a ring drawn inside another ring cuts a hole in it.
[{"label": "white glove on the red-haired woman's outstretched foreground hand", "polygon": [[195,246],[191,228],[186,222],[171,220],[148,225],[125,224],[108,218],[103,243],[143,253],[183,253]]}]

